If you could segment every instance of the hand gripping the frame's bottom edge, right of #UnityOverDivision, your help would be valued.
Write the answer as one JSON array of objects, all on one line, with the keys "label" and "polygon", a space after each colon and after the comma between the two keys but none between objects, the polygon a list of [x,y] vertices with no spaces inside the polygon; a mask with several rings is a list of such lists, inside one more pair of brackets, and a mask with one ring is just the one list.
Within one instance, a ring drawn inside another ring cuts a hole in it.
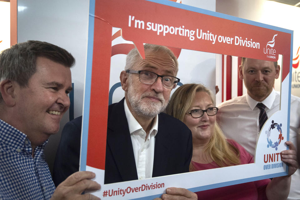
[{"label": "hand gripping the frame's bottom edge, right of #UnityOverDivision", "polygon": [[197,194],[184,188],[168,187],[166,194],[162,198],[155,198],[154,200],[197,200]]}]

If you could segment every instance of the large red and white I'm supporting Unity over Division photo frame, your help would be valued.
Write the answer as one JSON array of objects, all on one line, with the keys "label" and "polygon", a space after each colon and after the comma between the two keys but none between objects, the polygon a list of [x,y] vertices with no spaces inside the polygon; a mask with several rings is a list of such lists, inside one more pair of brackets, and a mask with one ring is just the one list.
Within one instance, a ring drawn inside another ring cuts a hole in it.
[{"label": "large red and white I'm supporting Unity over Division photo frame", "polygon": [[[280,152],[287,149],[284,142],[289,140],[291,30],[171,1],[90,0],[89,12],[80,170],[96,173],[101,190],[95,195],[102,199],[153,199],[167,187],[197,192],[287,175]],[[149,28],[152,23],[158,24],[156,31]],[[122,37],[134,43],[142,58],[143,43],[268,61],[277,61],[282,55],[280,110],[261,130],[255,163],[104,184],[112,27],[122,29]],[[267,141],[273,131],[279,139],[270,145]]]}]

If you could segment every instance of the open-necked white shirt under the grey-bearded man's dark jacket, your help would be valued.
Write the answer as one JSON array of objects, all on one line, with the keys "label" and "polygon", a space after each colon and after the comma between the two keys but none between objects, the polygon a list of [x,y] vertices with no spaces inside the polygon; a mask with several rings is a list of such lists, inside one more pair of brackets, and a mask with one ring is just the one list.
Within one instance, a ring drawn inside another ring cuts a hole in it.
[{"label": "open-necked white shirt under the grey-bearded man's dark jacket", "polygon": [[133,146],[138,179],[152,178],[155,136],[158,131],[158,115],[153,119],[148,138],[146,138],[146,132],[133,117],[126,100],[124,101],[124,108]]}]

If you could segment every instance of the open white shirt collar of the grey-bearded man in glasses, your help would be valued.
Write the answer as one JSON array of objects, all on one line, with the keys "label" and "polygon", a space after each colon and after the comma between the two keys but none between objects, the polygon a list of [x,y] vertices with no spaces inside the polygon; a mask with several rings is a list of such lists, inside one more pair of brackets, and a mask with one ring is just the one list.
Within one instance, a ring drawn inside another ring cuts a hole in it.
[{"label": "open white shirt collar of the grey-bearded man in glasses", "polygon": [[[132,113],[130,112],[126,103],[126,99],[124,101],[124,109],[125,109],[125,115],[128,122],[129,133],[131,134],[137,130],[143,129],[142,126],[138,123],[138,121],[133,117]],[[149,133],[151,133],[154,130],[154,136],[156,136],[158,131],[158,115],[155,116],[153,122],[154,123],[152,123],[152,127]]]}]

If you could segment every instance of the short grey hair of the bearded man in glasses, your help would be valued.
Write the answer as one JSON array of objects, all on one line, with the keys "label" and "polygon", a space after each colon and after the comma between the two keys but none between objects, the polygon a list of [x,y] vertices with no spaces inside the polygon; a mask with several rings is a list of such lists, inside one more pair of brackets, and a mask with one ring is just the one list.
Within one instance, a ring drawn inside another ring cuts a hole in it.
[{"label": "short grey hair of the bearded man in glasses", "polygon": [[[149,50],[151,52],[162,52],[162,53],[167,53],[175,62],[175,76],[177,75],[178,72],[178,61],[174,53],[165,46],[161,45],[156,45],[156,44],[145,44],[144,49]],[[127,57],[126,57],[126,65],[125,65],[125,71],[128,69],[133,69],[134,65],[141,59],[140,54],[138,53],[137,48],[132,49]]]}]

